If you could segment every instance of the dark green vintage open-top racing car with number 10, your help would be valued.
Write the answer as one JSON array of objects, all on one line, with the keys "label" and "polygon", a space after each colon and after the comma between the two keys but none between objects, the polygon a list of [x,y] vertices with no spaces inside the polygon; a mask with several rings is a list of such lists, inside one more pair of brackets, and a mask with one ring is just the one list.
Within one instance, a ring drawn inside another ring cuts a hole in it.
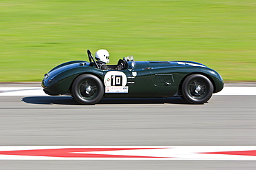
[{"label": "dark green vintage open-top racing car with number 10", "polygon": [[[192,61],[134,61],[127,56],[120,71],[100,70],[87,50],[89,62],[69,61],[44,75],[42,87],[51,96],[71,94],[83,105],[101,98],[163,98],[179,96],[189,103],[207,102],[223,89],[223,79],[214,70]],[[108,65],[116,67],[116,65]]]}]

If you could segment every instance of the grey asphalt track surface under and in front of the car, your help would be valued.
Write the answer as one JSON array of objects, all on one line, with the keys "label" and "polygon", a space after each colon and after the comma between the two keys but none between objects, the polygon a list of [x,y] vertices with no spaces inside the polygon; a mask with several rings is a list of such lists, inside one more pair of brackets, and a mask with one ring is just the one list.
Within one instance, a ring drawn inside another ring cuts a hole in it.
[{"label": "grey asphalt track surface under and in front of the car", "polygon": [[[230,85],[232,86],[232,85]],[[256,145],[256,96],[113,98],[0,96],[0,146]],[[0,160],[0,169],[256,169],[255,161]]]}]

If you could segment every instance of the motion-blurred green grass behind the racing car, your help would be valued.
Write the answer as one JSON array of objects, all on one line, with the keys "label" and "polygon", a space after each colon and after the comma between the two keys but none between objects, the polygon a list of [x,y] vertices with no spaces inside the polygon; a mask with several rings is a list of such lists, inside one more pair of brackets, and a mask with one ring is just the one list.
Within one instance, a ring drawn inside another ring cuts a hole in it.
[{"label": "motion-blurred green grass behind the racing car", "polygon": [[111,64],[197,61],[224,81],[256,81],[255,0],[0,0],[0,81],[110,52]]}]

